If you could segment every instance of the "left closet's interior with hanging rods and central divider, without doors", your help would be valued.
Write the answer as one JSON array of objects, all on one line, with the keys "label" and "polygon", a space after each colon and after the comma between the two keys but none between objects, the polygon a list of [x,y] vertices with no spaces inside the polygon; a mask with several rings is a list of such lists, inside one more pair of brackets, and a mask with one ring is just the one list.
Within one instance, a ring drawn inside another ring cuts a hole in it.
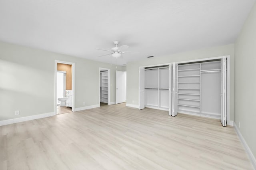
[{"label": "left closet's interior with hanging rods and central divider, without doors", "polygon": [[145,107],[168,111],[169,66],[145,68]]}]

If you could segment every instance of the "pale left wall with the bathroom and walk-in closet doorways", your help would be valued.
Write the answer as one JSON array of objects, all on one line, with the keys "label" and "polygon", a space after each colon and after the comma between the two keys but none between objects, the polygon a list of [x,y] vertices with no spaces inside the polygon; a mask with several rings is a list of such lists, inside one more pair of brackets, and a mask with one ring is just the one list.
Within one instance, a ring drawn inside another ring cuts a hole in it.
[{"label": "pale left wall with the bathroom and walk-in closet doorways", "polygon": [[75,63],[75,108],[99,104],[99,67],[110,69],[116,101],[116,65],[0,42],[0,121],[54,112],[55,59]]}]

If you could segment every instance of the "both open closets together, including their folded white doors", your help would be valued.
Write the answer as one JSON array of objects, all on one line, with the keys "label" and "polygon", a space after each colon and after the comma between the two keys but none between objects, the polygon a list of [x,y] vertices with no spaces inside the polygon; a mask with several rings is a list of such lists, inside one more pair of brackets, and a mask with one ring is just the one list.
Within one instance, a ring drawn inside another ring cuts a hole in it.
[{"label": "both open closets together, including their folded white doors", "polygon": [[230,121],[230,56],[139,67],[138,109]]}]

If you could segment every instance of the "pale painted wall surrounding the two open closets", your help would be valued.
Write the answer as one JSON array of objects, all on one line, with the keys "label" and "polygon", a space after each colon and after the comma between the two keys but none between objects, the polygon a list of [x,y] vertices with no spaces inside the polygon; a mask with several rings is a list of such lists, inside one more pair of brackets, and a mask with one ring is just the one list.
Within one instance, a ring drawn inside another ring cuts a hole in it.
[{"label": "pale painted wall surrounding the two open closets", "polygon": [[[230,120],[234,120],[234,44],[186,51],[173,55],[154,57],[127,63],[127,104],[138,105],[138,68],[140,66],[188,61],[209,57],[230,55]],[[146,57],[145,57],[146,58]]]}]

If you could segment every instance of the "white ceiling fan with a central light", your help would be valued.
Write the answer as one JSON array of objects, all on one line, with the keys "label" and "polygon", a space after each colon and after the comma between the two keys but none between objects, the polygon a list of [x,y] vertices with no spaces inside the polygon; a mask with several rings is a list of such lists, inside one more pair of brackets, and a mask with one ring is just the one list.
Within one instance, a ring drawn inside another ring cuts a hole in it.
[{"label": "white ceiling fan with a central light", "polygon": [[122,46],[118,47],[117,46],[118,43],[119,43],[118,41],[114,41],[114,44],[116,45],[116,47],[113,47],[110,50],[96,48],[98,50],[108,51],[109,52],[108,54],[100,55],[98,57],[103,57],[103,56],[106,56],[106,55],[111,55],[112,57],[119,58],[119,57],[122,57],[122,54],[124,54],[124,53],[134,53],[134,52],[131,52],[131,51],[123,51],[124,49],[127,49],[129,46],[128,45],[122,45]]}]

